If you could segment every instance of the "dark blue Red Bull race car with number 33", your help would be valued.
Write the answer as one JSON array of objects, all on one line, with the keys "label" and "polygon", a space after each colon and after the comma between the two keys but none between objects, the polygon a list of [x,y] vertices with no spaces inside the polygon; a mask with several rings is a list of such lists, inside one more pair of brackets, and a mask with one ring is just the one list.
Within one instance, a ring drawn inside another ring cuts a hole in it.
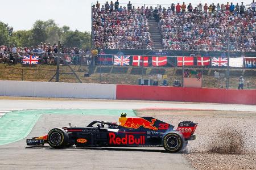
[{"label": "dark blue Red Bull race car with number 33", "polygon": [[173,125],[153,117],[127,117],[121,114],[116,122],[93,121],[86,127],[53,128],[47,135],[27,139],[28,146],[53,148],[76,147],[164,147],[168,152],[183,150],[193,135],[197,123],[180,122]]}]

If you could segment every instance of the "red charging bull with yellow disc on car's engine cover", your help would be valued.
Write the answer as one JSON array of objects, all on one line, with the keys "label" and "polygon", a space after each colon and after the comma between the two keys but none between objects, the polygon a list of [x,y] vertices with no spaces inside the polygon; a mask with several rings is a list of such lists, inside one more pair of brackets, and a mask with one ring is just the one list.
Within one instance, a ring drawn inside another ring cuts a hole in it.
[{"label": "red charging bull with yellow disc on car's engine cover", "polygon": [[151,129],[151,130],[158,130],[155,126],[156,119],[152,118],[151,122],[148,120],[145,120],[142,117],[120,117],[119,122],[120,125],[125,128],[134,128],[138,129],[139,127],[143,126],[144,128]]}]

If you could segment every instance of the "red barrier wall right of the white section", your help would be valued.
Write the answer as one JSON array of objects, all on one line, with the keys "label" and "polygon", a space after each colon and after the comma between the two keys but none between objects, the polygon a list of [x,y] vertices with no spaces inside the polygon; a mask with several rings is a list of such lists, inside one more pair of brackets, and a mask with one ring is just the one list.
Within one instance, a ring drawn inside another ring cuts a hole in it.
[{"label": "red barrier wall right of the white section", "polygon": [[256,90],[117,85],[117,99],[256,104]]}]

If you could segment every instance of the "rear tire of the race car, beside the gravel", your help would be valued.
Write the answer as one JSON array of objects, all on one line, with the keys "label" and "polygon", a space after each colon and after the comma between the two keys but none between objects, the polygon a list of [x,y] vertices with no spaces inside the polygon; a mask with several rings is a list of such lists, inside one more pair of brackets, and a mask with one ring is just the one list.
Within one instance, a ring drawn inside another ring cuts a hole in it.
[{"label": "rear tire of the race car, beside the gravel", "polygon": [[184,146],[184,139],[178,133],[167,133],[163,137],[163,147],[168,152],[178,152]]}]

